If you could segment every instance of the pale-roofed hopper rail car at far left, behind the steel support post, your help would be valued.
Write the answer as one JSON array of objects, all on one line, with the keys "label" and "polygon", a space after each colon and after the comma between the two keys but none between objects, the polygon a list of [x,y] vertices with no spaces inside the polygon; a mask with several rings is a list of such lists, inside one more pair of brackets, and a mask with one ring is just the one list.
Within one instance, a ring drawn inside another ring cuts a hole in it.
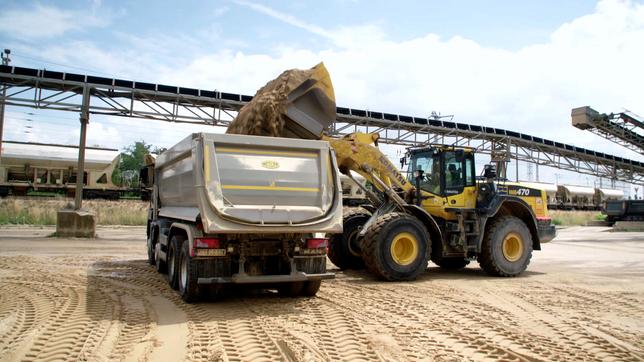
[{"label": "pale-roofed hopper rail car at far left, behind the steel support post", "polygon": [[[47,143],[4,141],[0,163],[0,196],[30,191],[73,196],[76,191],[78,147]],[[121,188],[112,182],[119,151],[87,147],[83,197],[118,199]]]}]

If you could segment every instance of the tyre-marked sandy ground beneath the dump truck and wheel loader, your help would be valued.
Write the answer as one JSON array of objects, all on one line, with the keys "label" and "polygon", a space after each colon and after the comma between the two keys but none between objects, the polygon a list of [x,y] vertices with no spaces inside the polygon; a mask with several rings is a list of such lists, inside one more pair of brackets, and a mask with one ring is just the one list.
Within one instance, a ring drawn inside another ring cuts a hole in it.
[{"label": "tyre-marked sandy ground beneath the dump truck and wheel loader", "polygon": [[315,298],[186,305],[142,228],[51,232],[0,228],[1,360],[644,360],[644,233],[561,230],[518,278],[338,271]]}]

